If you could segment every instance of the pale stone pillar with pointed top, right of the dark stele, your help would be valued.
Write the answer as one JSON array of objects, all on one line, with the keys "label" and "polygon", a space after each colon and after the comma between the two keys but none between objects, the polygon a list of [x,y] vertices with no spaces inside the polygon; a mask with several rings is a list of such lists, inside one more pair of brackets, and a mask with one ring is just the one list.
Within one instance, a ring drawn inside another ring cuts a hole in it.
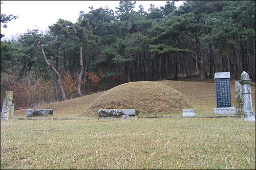
[{"label": "pale stone pillar with pointed top, right of the dark stele", "polygon": [[239,81],[242,85],[242,95],[243,95],[243,108],[244,108],[244,120],[245,121],[254,121],[255,115],[252,108],[252,98],[251,98],[251,87],[249,75],[247,72],[243,71],[241,74],[241,80]]}]

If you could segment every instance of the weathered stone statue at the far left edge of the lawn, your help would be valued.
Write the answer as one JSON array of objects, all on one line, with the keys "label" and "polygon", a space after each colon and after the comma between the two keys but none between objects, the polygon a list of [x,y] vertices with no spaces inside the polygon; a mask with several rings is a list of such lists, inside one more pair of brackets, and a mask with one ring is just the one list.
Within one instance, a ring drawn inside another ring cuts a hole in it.
[{"label": "weathered stone statue at the far left edge of the lawn", "polygon": [[1,111],[1,117],[3,120],[8,120],[9,114],[14,118],[14,104],[13,100],[13,91],[6,91],[6,98],[3,102],[3,107]]}]

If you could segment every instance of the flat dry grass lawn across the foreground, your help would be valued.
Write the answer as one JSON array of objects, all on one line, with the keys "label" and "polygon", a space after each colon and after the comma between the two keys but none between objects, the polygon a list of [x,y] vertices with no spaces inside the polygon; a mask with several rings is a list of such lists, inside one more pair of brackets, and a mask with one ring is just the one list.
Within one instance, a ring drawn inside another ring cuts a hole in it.
[{"label": "flat dry grass lawn across the foreground", "polygon": [[1,121],[1,169],[255,169],[241,118]]}]

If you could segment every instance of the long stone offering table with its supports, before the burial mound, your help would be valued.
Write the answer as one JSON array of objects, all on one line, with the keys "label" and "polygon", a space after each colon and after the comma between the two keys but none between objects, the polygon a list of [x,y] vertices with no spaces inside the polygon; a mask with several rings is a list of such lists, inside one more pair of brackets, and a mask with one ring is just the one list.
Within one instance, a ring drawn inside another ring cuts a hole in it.
[{"label": "long stone offering table with its supports, before the burial mound", "polygon": [[139,111],[136,109],[99,109],[99,119],[112,119],[112,118],[136,118]]}]

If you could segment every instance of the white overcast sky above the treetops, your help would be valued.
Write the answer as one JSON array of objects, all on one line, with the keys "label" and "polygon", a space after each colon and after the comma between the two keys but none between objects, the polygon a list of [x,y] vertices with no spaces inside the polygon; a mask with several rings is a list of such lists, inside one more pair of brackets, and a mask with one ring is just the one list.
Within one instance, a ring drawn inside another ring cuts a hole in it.
[{"label": "white overcast sky above the treetops", "polygon": [[[11,38],[12,35],[26,33],[28,29],[38,28],[45,31],[48,26],[56,23],[59,18],[76,22],[79,11],[88,13],[89,6],[94,9],[99,7],[109,7],[116,11],[119,1],[1,1],[1,14],[13,14],[19,16],[16,20],[7,23],[7,28],[1,27],[1,34],[5,34],[4,39]],[[167,1],[136,1],[135,11],[139,5],[147,11],[150,4],[156,7],[164,6]],[[176,3],[177,6],[184,1]]]}]

